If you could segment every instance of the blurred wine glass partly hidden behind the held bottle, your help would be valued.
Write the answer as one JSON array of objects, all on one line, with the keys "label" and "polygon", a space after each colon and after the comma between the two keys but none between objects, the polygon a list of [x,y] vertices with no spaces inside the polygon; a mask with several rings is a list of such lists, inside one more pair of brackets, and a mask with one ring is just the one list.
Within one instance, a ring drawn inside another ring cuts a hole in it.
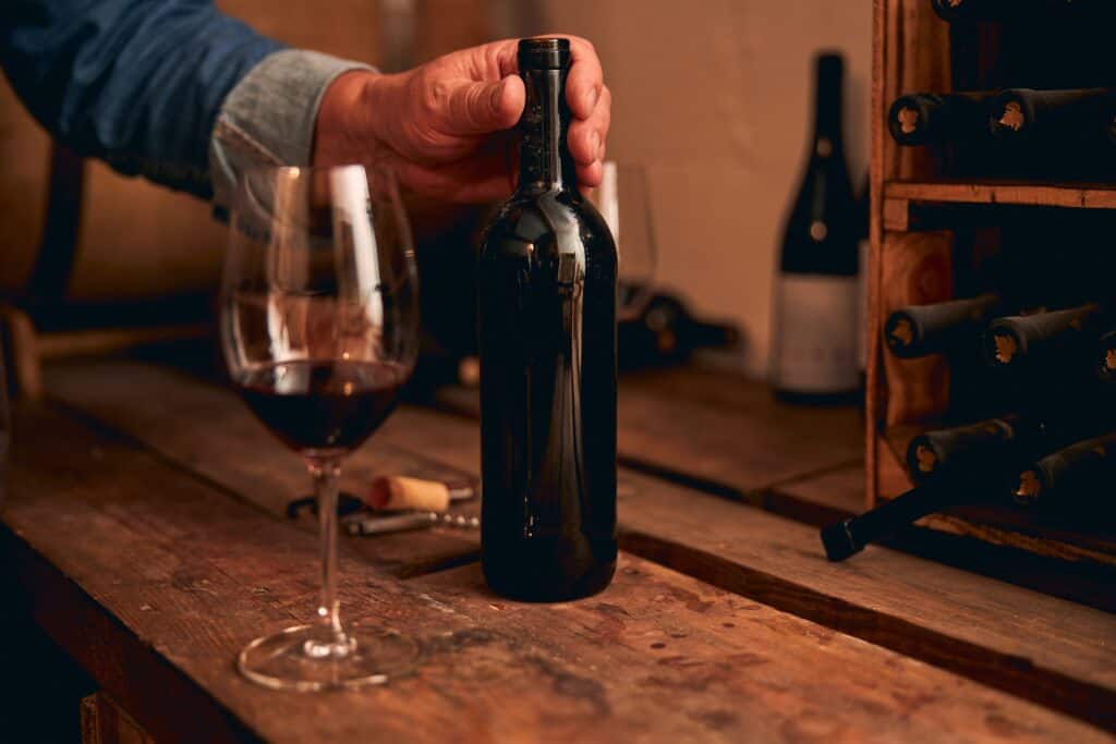
[{"label": "blurred wine glass partly hidden behind the held bottle", "polygon": [[[606,161],[600,185],[589,195],[616,241],[619,258],[616,319],[639,318],[654,294],[655,230],[647,171],[642,165]],[[623,215],[623,232],[620,231]]]}]

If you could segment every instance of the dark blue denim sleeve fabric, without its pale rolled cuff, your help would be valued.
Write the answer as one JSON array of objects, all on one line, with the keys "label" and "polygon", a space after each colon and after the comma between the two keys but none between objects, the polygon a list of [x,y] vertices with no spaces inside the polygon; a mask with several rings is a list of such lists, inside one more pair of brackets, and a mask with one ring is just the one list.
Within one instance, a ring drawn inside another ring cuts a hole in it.
[{"label": "dark blue denim sleeve fabric, without its pale rolled cuff", "polygon": [[0,21],[4,73],[52,135],[201,196],[222,102],[281,48],[208,0],[8,0]]}]

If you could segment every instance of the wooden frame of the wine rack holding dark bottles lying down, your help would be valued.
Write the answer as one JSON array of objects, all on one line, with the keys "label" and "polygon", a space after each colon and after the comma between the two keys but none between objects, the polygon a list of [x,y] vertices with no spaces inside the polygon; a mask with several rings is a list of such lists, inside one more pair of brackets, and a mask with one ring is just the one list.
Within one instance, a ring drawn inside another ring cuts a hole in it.
[{"label": "wooden frame of the wine rack holding dark bottles lying down", "polygon": [[[902,306],[951,299],[954,261],[972,250],[972,244],[956,239],[947,222],[937,221],[924,229],[912,215],[924,205],[954,204],[988,205],[983,209],[993,211],[1001,209],[998,205],[1116,210],[1116,181],[1065,184],[942,178],[933,153],[897,146],[886,125],[891,102],[908,91],[951,89],[951,28],[934,13],[930,0],[874,0],[873,4],[868,508],[912,487],[903,465],[906,445],[920,431],[934,427],[950,395],[946,360],[894,358],[882,342],[884,319]],[[1116,493],[1112,497],[1116,499]],[[1110,530],[1054,526],[1038,512],[974,506],[932,515],[920,524],[1064,560],[1116,566],[1116,534]]]}]

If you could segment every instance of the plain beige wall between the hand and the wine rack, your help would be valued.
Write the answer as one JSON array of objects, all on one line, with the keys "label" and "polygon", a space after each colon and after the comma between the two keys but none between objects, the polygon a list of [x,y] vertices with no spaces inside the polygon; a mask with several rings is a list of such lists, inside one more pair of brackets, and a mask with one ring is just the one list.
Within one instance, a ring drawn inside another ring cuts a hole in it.
[{"label": "plain beige wall between the hand and the wine rack", "polygon": [[771,276],[801,174],[810,56],[845,51],[854,186],[867,167],[872,3],[540,0],[537,31],[590,38],[615,94],[609,156],[645,163],[662,283],[737,320],[767,367]]}]

